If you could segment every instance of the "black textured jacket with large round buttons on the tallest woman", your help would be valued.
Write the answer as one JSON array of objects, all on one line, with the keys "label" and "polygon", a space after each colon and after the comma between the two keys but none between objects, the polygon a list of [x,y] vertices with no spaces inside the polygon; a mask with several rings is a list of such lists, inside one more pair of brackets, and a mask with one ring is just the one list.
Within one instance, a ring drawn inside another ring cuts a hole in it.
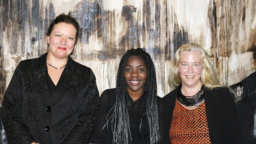
[{"label": "black textured jacket with large round buttons on the tallest woman", "polygon": [[87,144],[96,122],[99,92],[92,70],[68,57],[49,94],[47,53],[18,64],[2,103],[10,144]]}]

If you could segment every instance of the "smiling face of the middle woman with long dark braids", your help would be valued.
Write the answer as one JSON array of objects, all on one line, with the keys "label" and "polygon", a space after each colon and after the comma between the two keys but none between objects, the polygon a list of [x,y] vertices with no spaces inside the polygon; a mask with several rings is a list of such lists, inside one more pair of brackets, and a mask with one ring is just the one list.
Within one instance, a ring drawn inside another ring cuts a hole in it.
[{"label": "smiling face of the middle woman with long dark braids", "polygon": [[144,93],[144,85],[147,80],[146,62],[140,56],[130,56],[124,68],[124,80],[129,94],[138,92]]}]

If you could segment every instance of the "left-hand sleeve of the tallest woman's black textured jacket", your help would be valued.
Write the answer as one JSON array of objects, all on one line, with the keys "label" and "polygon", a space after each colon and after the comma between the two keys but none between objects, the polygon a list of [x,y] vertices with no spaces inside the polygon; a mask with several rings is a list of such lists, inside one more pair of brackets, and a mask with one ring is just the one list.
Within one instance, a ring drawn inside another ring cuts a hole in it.
[{"label": "left-hand sleeve of the tallest woman's black textured jacket", "polygon": [[22,122],[22,62],[18,64],[2,102],[2,121],[10,144],[31,144],[33,136]]}]

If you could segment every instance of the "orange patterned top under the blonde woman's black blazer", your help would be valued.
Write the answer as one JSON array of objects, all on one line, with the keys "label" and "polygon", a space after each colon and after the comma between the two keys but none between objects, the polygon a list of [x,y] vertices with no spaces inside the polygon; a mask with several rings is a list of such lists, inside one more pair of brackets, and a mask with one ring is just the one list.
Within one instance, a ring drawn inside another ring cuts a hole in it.
[{"label": "orange patterned top under the blonde woman's black blazer", "polygon": [[205,103],[189,110],[176,100],[170,128],[171,144],[210,144]]}]

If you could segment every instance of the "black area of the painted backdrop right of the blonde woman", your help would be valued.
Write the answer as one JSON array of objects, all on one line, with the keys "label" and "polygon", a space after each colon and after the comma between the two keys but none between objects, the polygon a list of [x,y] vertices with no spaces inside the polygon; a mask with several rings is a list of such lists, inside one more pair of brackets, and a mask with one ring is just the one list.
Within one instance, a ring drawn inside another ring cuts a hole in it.
[{"label": "black area of the painted backdrop right of the blonde woman", "polygon": [[236,106],[244,144],[256,144],[256,72],[230,87],[237,94]]}]

